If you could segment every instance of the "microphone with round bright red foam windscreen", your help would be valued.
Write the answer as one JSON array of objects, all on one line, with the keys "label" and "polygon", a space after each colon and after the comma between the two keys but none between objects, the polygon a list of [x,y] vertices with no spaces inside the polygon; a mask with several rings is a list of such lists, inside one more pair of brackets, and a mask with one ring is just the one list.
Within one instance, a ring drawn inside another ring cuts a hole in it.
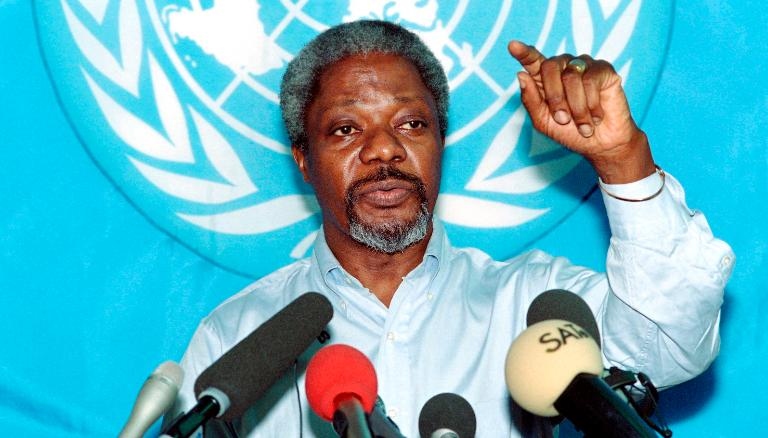
[{"label": "microphone with round bright red foam windscreen", "polygon": [[307,365],[305,389],[309,406],[332,422],[339,436],[371,436],[367,415],[376,403],[378,381],[360,350],[344,344],[321,348]]}]

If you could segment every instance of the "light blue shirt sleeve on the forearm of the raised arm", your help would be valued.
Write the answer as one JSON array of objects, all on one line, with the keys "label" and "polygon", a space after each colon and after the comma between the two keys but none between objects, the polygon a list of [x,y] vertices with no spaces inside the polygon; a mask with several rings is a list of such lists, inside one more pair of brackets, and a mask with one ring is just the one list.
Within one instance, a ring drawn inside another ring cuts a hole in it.
[{"label": "light blue shirt sleeve on the forearm of the raised arm", "polygon": [[[658,174],[604,185],[637,199],[656,192]],[[690,210],[677,180],[653,199],[627,202],[603,192],[611,241],[609,293],[598,312],[607,360],[648,374],[659,386],[691,379],[719,351],[720,306],[734,254]]]}]

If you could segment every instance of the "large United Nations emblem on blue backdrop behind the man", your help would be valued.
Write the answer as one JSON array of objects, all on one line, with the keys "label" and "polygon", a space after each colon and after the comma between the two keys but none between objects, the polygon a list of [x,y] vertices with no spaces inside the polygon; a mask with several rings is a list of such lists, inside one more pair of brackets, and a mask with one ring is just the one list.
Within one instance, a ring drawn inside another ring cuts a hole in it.
[{"label": "large United Nations emblem on blue backdrop behind the man", "polygon": [[98,166],[154,224],[250,276],[305,256],[320,225],[277,98],[317,33],[385,19],[432,48],[451,88],[437,214],[456,245],[501,258],[595,187],[579,156],[532,131],[507,41],[611,61],[642,118],[671,27],[661,0],[59,0],[37,1],[35,15],[63,109]]}]

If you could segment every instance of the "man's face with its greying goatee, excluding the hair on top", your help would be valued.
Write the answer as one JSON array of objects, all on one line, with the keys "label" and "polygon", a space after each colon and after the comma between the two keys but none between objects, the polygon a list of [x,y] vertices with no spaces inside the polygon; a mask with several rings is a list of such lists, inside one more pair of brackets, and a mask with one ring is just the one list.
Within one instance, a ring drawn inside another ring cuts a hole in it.
[{"label": "man's face with its greying goatee, excluding the hair on top", "polygon": [[402,251],[424,237],[440,186],[432,94],[409,61],[387,54],[330,65],[317,90],[306,152],[294,148],[294,158],[315,189],[326,235]]}]

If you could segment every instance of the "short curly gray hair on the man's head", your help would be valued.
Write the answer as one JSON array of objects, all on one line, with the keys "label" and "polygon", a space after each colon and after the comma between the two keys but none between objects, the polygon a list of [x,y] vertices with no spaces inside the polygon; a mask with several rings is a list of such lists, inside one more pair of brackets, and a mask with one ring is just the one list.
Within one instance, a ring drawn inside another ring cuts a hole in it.
[{"label": "short curly gray hair on the man's head", "polygon": [[448,79],[435,55],[404,27],[379,20],[334,26],[310,41],[288,64],[280,84],[280,110],[291,143],[306,149],[304,117],[326,67],[350,55],[387,53],[410,61],[437,105],[440,134],[448,130]]}]

